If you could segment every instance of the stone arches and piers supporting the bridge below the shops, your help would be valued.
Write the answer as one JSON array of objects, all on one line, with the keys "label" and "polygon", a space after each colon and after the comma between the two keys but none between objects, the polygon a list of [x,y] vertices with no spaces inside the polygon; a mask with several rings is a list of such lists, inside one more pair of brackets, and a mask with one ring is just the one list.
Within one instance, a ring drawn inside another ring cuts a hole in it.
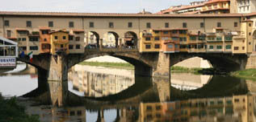
[{"label": "stone arches and piers supporting the bridge below the shops", "polygon": [[[135,67],[135,75],[170,76],[170,67],[192,57],[201,57],[212,63],[213,67],[224,71],[238,71],[255,67],[256,56],[233,55],[230,53],[185,53],[165,54],[162,52],[140,53],[137,49],[128,48],[95,48],[85,49],[83,54],[34,55],[33,62],[28,57],[18,60],[29,63],[48,74],[48,80],[66,80],[70,67],[82,61],[103,55],[124,59]],[[193,65],[193,64],[191,64]],[[44,73],[45,75],[45,73]]]}]

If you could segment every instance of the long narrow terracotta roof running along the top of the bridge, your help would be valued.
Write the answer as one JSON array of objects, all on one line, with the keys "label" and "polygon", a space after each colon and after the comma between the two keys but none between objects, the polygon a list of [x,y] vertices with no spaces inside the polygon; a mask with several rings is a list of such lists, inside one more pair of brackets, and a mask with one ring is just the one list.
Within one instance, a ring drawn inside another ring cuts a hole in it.
[{"label": "long narrow terracotta roof running along the top of the bridge", "polygon": [[48,17],[111,17],[111,18],[200,18],[241,17],[243,14],[116,14],[116,13],[60,13],[60,12],[17,12],[0,11],[0,16],[48,16]]}]

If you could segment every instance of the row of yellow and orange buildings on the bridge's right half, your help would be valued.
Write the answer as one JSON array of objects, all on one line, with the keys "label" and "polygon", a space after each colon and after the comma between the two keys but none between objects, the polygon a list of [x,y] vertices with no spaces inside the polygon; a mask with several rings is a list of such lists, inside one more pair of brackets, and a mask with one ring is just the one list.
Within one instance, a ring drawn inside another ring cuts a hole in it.
[{"label": "row of yellow and orange buildings on the bridge's right half", "polygon": [[[183,28],[152,29],[141,32],[140,52],[252,53],[252,25],[253,21],[248,19],[241,21],[240,27],[238,22],[233,22],[233,29],[216,22],[208,32],[189,30],[186,22]],[[204,27],[204,22],[199,26]]]}]

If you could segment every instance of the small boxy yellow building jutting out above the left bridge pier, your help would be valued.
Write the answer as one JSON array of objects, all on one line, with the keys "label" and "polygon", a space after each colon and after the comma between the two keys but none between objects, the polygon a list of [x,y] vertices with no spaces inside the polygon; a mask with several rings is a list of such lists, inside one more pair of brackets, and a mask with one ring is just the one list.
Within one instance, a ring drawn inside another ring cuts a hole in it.
[{"label": "small boxy yellow building jutting out above the left bridge pier", "polygon": [[69,53],[69,33],[67,31],[53,31],[51,34],[51,52],[55,55],[57,52]]}]

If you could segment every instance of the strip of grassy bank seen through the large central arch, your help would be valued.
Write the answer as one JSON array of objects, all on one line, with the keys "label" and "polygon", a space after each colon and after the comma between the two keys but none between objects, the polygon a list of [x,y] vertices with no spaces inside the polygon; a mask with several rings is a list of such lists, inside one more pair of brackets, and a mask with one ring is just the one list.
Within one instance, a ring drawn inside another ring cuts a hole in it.
[{"label": "strip of grassy bank seen through the large central arch", "polygon": [[97,66],[97,67],[113,67],[133,70],[134,67],[130,63],[107,63],[107,62],[82,62],[81,65]]}]

